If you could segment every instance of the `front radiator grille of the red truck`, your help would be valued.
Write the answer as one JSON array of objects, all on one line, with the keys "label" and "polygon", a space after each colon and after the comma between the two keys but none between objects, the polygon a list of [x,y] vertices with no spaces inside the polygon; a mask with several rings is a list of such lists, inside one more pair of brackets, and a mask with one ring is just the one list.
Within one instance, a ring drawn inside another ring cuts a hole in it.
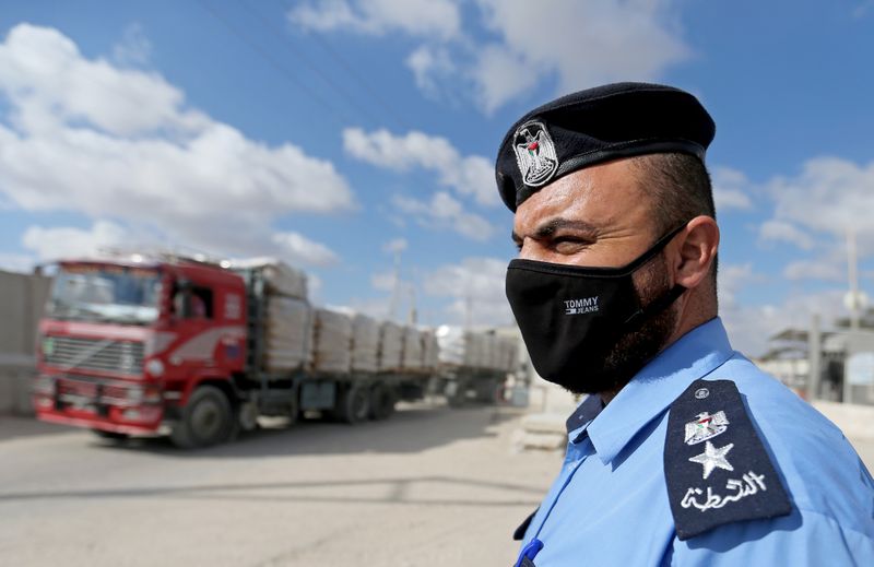
[{"label": "front radiator grille of the red truck", "polygon": [[141,375],[143,343],[73,336],[43,338],[46,364],[70,370]]}]

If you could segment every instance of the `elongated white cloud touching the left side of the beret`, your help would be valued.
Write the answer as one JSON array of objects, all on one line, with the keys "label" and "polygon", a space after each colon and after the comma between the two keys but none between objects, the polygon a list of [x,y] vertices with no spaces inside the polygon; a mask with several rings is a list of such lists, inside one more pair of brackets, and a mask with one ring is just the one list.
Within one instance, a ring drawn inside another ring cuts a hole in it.
[{"label": "elongated white cloud touching the left side of the beret", "polygon": [[446,138],[409,132],[394,135],[388,130],[370,133],[359,128],[343,131],[345,151],[364,162],[394,172],[413,167],[435,172],[438,181],[477,203],[499,204],[492,162],[479,155],[462,155]]}]

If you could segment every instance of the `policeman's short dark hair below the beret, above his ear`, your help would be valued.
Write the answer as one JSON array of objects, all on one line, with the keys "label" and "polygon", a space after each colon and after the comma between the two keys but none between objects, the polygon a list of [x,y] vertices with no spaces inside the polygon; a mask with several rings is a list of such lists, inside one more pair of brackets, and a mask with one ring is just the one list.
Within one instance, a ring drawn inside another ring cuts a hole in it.
[{"label": "policeman's short dark hair below the beret, above his ear", "polygon": [[[665,234],[696,216],[717,217],[710,174],[699,158],[680,153],[649,154],[633,158],[643,192],[652,199],[656,226]],[[717,264],[710,271],[717,293]]]}]

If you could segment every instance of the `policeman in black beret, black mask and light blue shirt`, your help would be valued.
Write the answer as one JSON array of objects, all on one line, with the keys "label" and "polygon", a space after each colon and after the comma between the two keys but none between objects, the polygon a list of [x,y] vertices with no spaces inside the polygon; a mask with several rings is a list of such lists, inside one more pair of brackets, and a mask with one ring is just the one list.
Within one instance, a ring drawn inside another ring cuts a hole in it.
[{"label": "policeman in black beret, black mask and light blue shirt", "polygon": [[591,394],[517,566],[874,565],[874,482],[841,432],[732,350],[705,151],[669,86],[575,93],[497,157],[534,368]]}]

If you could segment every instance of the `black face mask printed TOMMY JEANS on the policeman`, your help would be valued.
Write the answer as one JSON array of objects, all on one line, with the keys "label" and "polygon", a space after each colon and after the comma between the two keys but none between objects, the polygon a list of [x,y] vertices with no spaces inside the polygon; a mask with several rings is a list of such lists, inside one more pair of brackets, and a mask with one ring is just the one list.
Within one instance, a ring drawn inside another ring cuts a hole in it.
[{"label": "black face mask printed TOMMY JEANS on the policeman", "polygon": [[567,387],[579,383],[588,371],[600,373],[601,368],[592,366],[603,364],[621,339],[664,311],[686,291],[675,285],[643,306],[633,280],[635,271],[685,226],[671,231],[622,268],[510,261],[507,299],[541,377]]}]

